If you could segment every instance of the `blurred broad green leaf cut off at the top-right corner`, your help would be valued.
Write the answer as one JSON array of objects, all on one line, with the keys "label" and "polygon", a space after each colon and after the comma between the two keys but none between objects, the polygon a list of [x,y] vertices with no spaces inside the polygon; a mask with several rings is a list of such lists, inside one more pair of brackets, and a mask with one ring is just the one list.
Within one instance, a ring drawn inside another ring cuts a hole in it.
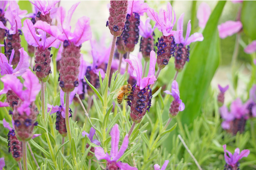
[{"label": "blurred broad green leaf cut off at the top-right corner", "polygon": [[243,31],[251,40],[256,40],[256,1],[243,1],[241,22]]}]

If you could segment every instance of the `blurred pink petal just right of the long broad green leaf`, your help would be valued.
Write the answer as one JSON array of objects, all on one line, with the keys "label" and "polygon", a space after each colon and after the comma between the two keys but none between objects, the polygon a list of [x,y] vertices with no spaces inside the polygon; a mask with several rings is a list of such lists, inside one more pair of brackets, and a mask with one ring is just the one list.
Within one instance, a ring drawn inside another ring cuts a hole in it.
[{"label": "blurred pink petal just right of the long broad green leaf", "polygon": [[243,25],[240,21],[226,21],[223,24],[218,25],[219,37],[226,38],[227,36],[238,33],[242,27]]}]

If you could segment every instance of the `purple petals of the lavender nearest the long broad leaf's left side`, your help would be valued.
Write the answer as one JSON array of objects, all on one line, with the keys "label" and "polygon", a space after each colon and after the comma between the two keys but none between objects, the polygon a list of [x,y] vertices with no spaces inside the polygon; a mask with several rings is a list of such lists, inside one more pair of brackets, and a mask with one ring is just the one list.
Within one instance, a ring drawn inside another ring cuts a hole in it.
[{"label": "purple petals of the lavender nearest the long broad leaf's left side", "polygon": [[184,40],[184,38],[183,38],[183,18],[184,18],[184,13],[180,15],[180,18],[177,22],[177,31],[176,31],[176,34],[174,34],[175,42],[178,44],[182,43],[183,45],[189,45],[191,42],[204,40],[204,37],[201,33],[194,33],[191,36],[189,36],[190,31],[191,31],[190,20],[187,23],[186,38]]}]

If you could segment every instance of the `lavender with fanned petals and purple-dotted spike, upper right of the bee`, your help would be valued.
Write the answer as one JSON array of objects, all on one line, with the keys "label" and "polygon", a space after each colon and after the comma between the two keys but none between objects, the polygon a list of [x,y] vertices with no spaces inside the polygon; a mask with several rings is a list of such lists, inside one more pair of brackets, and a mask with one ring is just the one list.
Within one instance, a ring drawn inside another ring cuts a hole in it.
[{"label": "lavender with fanned petals and purple-dotted spike, upper right of the bee", "polygon": [[[174,13],[174,16],[173,16]],[[148,17],[156,22],[156,27],[163,33],[163,36],[158,38],[157,60],[159,69],[163,69],[169,63],[171,56],[175,51],[175,40],[173,34],[173,25],[176,22],[175,12],[172,10],[170,2],[167,3],[167,11],[160,9],[159,15],[154,9],[147,10]]]}]

